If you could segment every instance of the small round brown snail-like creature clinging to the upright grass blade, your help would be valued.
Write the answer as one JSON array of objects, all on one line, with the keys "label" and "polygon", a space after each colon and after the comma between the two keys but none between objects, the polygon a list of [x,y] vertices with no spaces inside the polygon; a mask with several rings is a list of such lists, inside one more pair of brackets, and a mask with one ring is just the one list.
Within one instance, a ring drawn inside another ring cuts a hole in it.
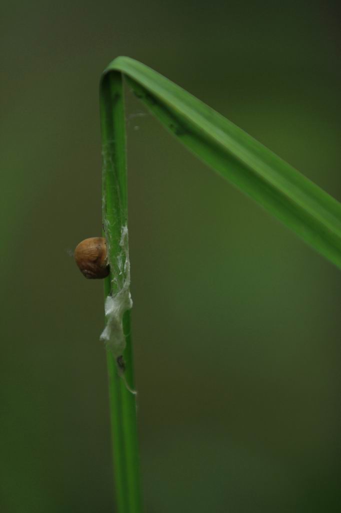
[{"label": "small round brown snail-like creature clinging to the upright grass blade", "polygon": [[110,267],[104,237],[84,239],[76,247],[74,257],[86,278],[97,280],[109,275]]}]

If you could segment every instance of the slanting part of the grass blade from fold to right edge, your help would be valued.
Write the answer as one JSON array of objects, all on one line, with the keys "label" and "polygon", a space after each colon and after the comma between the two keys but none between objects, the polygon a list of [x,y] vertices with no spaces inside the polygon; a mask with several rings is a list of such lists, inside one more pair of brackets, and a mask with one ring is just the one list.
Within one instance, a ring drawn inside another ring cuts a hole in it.
[{"label": "slanting part of the grass blade from fold to right edge", "polygon": [[[126,76],[179,141],[341,267],[341,204],[250,135],[164,76],[129,57],[103,73]],[[107,109],[112,104],[106,105]]]}]

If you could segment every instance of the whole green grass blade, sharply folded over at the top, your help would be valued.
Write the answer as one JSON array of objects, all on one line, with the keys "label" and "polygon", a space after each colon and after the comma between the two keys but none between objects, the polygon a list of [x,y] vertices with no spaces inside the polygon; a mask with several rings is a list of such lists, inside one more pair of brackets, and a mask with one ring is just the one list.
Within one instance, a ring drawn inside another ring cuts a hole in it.
[{"label": "whole green grass blade, sharply folded over at the top", "polygon": [[[341,267],[341,205],[317,185],[181,87],[129,57],[116,58],[100,84],[103,153],[103,222],[115,277],[122,227],[127,225],[126,149],[122,76],[177,139],[221,176],[251,196],[327,259]],[[125,278],[123,269],[122,280]],[[123,316],[125,379],[134,387],[130,312]],[[108,351],[113,459],[118,513],[140,513],[136,398],[120,378]]]}]

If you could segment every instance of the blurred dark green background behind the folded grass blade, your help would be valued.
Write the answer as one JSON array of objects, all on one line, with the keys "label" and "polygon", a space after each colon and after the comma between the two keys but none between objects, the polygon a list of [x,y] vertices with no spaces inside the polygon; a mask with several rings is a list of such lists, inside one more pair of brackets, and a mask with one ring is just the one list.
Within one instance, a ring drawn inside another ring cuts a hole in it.
[{"label": "blurred dark green background behind the folded grass blade", "polygon": [[[101,71],[137,58],[341,200],[338,9],[3,3],[2,512],[114,511],[103,285],[70,256],[101,233]],[[146,512],[339,511],[339,271],[130,91],[127,138]]]}]

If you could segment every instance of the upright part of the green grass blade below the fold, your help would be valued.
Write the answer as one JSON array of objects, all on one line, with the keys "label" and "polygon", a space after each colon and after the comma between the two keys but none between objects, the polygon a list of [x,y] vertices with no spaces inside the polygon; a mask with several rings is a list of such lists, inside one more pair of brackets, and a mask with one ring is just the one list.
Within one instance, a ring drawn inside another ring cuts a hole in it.
[{"label": "upright part of the green grass blade below the fold", "polygon": [[[107,106],[110,105],[108,109]],[[115,295],[126,278],[118,256],[122,226],[127,225],[125,120],[122,77],[114,73],[101,87],[101,136],[103,159],[103,226],[108,240],[110,276],[105,279],[105,297]],[[130,311],[123,315],[126,348],[124,377],[134,388]],[[113,462],[117,513],[140,513],[136,396],[119,376],[116,358],[107,351],[112,426]]]}]

